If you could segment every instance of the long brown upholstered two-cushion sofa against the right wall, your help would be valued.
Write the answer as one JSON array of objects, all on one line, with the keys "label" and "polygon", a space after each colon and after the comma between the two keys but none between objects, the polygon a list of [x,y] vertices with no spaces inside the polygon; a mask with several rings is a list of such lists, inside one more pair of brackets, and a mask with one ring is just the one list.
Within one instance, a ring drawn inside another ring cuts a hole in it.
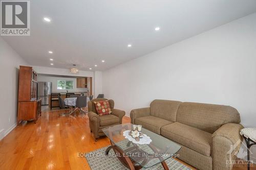
[{"label": "long brown upholstered two-cushion sofa against the right wall", "polygon": [[154,100],[150,107],[131,111],[131,123],[181,145],[179,159],[198,169],[232,169],[230,146],[240,149],[243,126],[237,109],[179,101]]}]

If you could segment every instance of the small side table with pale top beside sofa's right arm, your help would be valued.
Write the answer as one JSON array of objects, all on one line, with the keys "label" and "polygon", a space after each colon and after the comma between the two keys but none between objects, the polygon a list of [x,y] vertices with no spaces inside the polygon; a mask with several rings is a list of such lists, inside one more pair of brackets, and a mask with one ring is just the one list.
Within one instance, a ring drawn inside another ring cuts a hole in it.
[{"label": "small side table with pale top beside sofa's right arm", "polygon": [[240,134],[244,137],[247,145],[247,169],[250,170],[250,148],[252,145],[256,144],[256,128],[244,128],[240,131]]}]

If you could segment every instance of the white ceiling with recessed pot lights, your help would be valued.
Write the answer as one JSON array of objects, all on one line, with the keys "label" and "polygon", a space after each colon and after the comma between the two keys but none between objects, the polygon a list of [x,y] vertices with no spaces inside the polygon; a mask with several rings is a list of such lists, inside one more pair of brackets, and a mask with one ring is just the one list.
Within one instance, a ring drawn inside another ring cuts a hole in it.
[{"label": "white ceiling with recessed pot lights", "polygon": [[254,12],[255,0],[36,0],[31,36],[3,38],[31,65],[104,70]]}]

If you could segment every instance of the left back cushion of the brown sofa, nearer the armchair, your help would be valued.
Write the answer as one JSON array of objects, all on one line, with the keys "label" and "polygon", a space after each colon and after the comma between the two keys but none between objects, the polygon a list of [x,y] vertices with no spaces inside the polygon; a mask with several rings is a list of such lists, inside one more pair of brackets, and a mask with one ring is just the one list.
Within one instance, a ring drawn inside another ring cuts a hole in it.
[{"label": "left back cushion of the brown sofa, nearer the armchair", "polygon": [[168,100],[154,100],[150,104],[150,114],[170,122],[176,122],[177,110],[181,102]]}]

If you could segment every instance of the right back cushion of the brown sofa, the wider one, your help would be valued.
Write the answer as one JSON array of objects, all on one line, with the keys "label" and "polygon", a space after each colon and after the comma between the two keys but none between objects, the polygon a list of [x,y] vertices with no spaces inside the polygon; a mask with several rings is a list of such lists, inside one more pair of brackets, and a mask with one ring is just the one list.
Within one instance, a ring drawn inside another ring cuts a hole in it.
[{"label": "right back cushion of the brown sofa, the wider one", "polygon": [[231,106],[184,102],[178,109],[177,122],[214,133],[226,123],[240,123],[240,114]]}]

